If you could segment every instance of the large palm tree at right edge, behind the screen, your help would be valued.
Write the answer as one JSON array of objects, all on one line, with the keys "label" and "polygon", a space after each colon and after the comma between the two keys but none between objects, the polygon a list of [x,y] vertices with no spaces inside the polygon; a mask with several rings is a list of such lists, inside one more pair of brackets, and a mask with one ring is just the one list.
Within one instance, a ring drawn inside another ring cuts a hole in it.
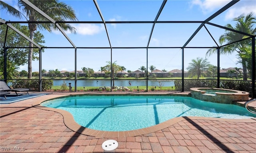
[{"label": "large palm tree at right edge, behind the screen", "polygon": [[[230,29],[234,29],[240,32],[245,32],[247,34],[256,34],[256,28],[254,28],[254,25],[256,23],[256,18],[253,16],[254,14],[251,12],[245,16],[245,14],[241,14],[238,18],[234,18],[233,21],[236,22],[235,27],[233,27],[231,24],[227,24],[226,27]],[[232,32],[229,30],[225,30],[225,34],[221,35],[219,38],[220,44],[223,44],[226,42],[227,44],[236,42],[238,40],[242,40],[243,38],[247,38],[248,36],[245,36],[243,34],[239,34],[236,32]],[[230,44],[228,46],[220,48],[220,54],[232,54],[233,52],[237,52],[238,56],[242,63],[243,68],[243,74],[244,74],[244,80],[247,80],[247,68],[246,68],[246,59],[241,56],[246,51],[246,47],[250,40],[244,40],[240,42],[236,42],[234,44]],[[216,48],[211,48],[206,52],[206,55],[211,55],[213,53],[216,53]]]}]

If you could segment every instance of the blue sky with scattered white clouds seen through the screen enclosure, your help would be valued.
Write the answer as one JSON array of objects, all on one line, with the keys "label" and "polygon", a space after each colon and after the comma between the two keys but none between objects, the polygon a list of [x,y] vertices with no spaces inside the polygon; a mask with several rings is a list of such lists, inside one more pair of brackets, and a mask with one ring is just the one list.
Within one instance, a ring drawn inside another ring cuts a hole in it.
[{"label": "blue sky with scattered white clouds seen through the screen enclosure", "polygon": [[[17,1],[4,0],[4,2],[17,7]],[[98,11],[92,0],[64,0],[72,6],[79,21],[101,21]],[[98,0],[98,6],[105,21],[154,21],[162,0]],[[158,21],[204,21],[230,0],[168,0],[162,10]],[[225,26],[240,14],[254,12],[256,14],[255,0],[240,0],[231,8],[211,20],[210,22]],[[0,17],[4,20],[19,21],[5,11],[1,10]],[[21,19],[25,21],[26,19]],[[24,24],[26,25],[26,24]],[[149,47],[181,47],[200,24],[156,24]],[[110,47],[103,24],[72,24],[76,34],[66,32],[76,47]],[[107,24],[106,28],[112,47],[146,47],[152,29],[152,24]],[[206,24],[213,38],[218,42],[224,30]],[[49,33],[40,30],[44,35],[47,47],[72,47],[61,32]],[[188,43],[187,47],[216,46],[205,28]],[[185,48],[185,69],[192,59],[206,57],[208,49]],[[176,49],[148,49],[148,66],[156,66],[158,70],[182,69],[182,53]],[[42,54],[42,68],[45,70],[73,71],[74,49],[45,49]],[[217,56],[208,56],[212,65],[217,66]],[[110,49],[77,49],[77,70],[82,67],[92,68],[94,71],[105,66],[110,61]],[[141,66],[146,67],[146,49],[112,49],[112,61],[126,70],[135,71]],[[238,67],[236,54],[220,57],[220,68]],[[33,71],[38,71],[38,61],[32,64]],[[20,66],[20,70],[27,70],[27,65]]]}]

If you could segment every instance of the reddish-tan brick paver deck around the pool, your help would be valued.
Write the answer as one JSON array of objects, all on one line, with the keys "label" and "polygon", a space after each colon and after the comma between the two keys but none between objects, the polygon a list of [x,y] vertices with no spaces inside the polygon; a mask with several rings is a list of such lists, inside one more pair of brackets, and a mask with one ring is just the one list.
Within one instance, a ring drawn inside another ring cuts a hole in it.
[{"label": "reddish-tan brick paver deck around the pool", "polygon": [[[35,105],[65,94],[74,93],[52,93],[0,105],[0,152],[256,153],[256,118],[178,117],[154,132],[134,133],[136,136],[104,131],[84,135],[84,128],[78,133],[68,127],[61,113]],[[104,151],[102,143],[108,139],[118,141],[118,148]]]}]

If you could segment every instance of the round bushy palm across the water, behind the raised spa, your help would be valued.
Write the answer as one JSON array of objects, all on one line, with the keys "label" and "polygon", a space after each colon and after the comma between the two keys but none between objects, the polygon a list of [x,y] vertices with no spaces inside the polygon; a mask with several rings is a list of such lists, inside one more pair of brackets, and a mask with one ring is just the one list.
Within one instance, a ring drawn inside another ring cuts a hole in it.
[{"label": "round bushy palm across the water, behind the raised spa", "polygon": [[204,72],[208,71],[208,66],[210,62],[207,61],[207,59],[203,59],[200,57],[197,57],[196,60],[192,59],[192,62],[189,63],[189,66],[187,68],[188,73],[192,76],[197,76],[197,79],[203,74]]}]

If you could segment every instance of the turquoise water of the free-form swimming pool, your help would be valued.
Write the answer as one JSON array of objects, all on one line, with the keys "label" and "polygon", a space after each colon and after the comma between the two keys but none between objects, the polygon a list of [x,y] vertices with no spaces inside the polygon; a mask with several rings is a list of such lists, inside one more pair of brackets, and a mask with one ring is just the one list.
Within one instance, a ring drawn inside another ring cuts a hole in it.
[{"label": "turquoise water of the free-form swimming pool", "polygon": [[256,117],[237,105],[170,95],[74,95],[41,105],[69,111],[79,125],[102,131],[141,129],[181,116]]}]

